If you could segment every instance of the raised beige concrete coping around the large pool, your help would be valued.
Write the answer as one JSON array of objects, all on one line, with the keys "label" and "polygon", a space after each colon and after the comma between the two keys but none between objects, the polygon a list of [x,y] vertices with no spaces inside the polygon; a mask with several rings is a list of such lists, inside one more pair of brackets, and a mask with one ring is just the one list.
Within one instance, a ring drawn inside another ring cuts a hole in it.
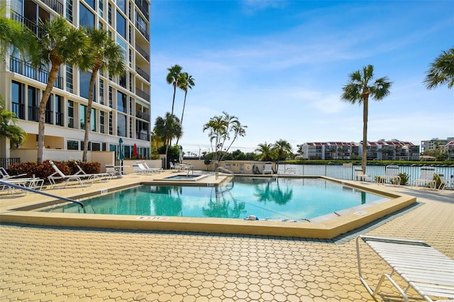
[{"label": "raised beige concrete coping around the large pool", "polygon": [[[270,177],[253,175],[253,177]],[[276,176],[275,176],[276,177]],[[277,177],[289,178],[319,178],[334,181],[338,184],[350,186],[370,193],[378,194],[391,198],[377,204],[361,208],[360,211],[350,211],[341,213],[341,215],[331,215],[324,219],[311,219],[311,222],[292,222],[276,220],[243,220],[233,218],[185,218],[173,216],[118,216],[106,214],[78,214],[78,213],[45,213],[37,211],[24,211],[31,209],[28,207],[16,207],[9,211],[0,213],[2,223],[21,223],[30,225],[48,225],[61,227],[84,227],[84,228],[111,228],[111,229],[131,229],[131,230],[165,230],[165,231],[189,231],[196,233],[225,233],[225,234],[243,234],[243,235],[270,235],[281,237],[306,237],[319,239],[333,239],[339,235],[348,233],[360,228],[384,216],[388,216],[403,208],[409,207],[416,203],[416,197],[405,194],[396,194],[386,190],[386,186],[370,187],[360,181],[345,181],[333,179],[331,177],[301,177],[279,175]],[[207,177],[206,182],[201,179],[201,184],[213,186],[222,184],[227,177],[212,181]],[[140,180],[139,184],[169,184],[170,181]],[[182,184],[177,181],[176,184]],[[188,185],[201,185],[194,181],[188,181]],[[186,185],[186,183],[185,183]],[[132,186],[131,184],[127,186]],[[116,186],[115,190],[121,189]],[[87,196],[87,193],[81,194],[78,198]],[[50,206],[60,201],[47,201],[40,203]]]}]

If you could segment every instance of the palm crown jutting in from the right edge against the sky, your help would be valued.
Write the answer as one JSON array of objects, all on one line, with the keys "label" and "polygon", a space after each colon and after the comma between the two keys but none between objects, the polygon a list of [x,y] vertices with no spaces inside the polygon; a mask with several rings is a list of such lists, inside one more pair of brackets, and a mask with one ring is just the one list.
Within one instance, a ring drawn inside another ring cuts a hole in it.
[{"label": "palm crown jutting in from the right edge against the sky", "polygon": [[448,51],[443,51],[433,63],[431,69],[426,72],[427,89],[433,89],[438,84],[448,84],[448,89],[454,86],[454,47]]}]

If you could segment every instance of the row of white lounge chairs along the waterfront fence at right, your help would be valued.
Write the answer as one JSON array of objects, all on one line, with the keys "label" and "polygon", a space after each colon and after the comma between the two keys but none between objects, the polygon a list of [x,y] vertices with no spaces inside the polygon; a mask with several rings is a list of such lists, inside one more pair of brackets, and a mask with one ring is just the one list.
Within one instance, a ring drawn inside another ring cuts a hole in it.
[{"label": "row of white lounge chairs along the waterfront fence at right", "polygon": [[[431,189],[437,189],[435,176],[435,167],[424,166],[421,167],[421,172],[418,179],[414,179],[413,186],[428,186]],[[445,186],[448,184],[448,180],[445,179],[444,174],[438,174],[441,184],[438,186],[438,189],[445,189]],[[361,169],[355,169],[355,178],[357,180],[366,181],[370,179],[370,175],[362,173]],[[390,183],[400,186],[400,176],[399,176],[399,166],[395,164],[389,164],[385,167],[384,174],[377,176],[377,184],[385,184],[387,181]]]}]

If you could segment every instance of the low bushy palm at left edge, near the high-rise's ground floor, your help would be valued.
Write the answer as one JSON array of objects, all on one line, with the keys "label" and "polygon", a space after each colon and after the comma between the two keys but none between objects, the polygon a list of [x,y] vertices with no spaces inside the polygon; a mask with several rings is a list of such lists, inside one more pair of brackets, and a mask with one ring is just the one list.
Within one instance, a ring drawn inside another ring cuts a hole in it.
[{"label": "low bushy palm at left edge, near the high-rise's ground floor", "polygon": [[11,147],[22,145],[27,138],[27,133],[17,125],[16,121],[16,114],[5,110],[4,100],[0,96],[0,136],[8,138]]}]

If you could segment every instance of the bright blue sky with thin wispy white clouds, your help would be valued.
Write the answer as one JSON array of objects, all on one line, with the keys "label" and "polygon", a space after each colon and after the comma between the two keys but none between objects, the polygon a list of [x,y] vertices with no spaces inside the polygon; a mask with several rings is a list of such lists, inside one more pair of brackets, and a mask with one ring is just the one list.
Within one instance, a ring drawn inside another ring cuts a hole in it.
[{"label": "bright blue sky with thin wispy white clouds", "polygon": [[[341,101],[348,75],[374,65],[391,94],[370,101],[367,138],[454,136],[454,89],[427,90],[433,60],[454,47],[454,1],[152,1],[152,127],[172,110],[167,68],[195,79],[185,152],[209,151],[203,125],[223,111],[247,125],[231,147],[362,140],[362,106]],[[181,117],[183,91],[174,113]]]}]

